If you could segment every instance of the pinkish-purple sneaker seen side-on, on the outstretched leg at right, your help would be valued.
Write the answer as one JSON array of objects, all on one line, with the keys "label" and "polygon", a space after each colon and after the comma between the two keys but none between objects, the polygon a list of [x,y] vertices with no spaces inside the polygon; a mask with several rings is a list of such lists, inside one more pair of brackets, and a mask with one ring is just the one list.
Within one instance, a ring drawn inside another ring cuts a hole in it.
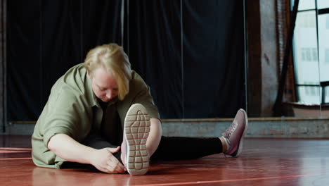
[{"label": "pinkish-purple sneaker seen side-on, on the outstretched leg at right", "polygon": [[228,149],[226,149],[224,154],[235,158],[240,156],[243,149],[243,138],[247,131],[247,126],[247,113],[245,113],[245,110],[240,109],[238,113],[236,113],[236,117],[231,126],[221,134],[228,143]]}]

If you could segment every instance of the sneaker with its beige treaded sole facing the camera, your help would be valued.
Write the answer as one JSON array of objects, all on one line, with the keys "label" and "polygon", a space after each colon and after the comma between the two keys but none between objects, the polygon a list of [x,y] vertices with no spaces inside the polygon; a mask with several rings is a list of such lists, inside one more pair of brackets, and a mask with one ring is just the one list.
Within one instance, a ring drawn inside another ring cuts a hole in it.
[{"label": "sneaker with its beige treaded sole facing the camera", "polygon": [[148,172],[148,132],[150,117],[145,107],[141,104],[131,105],[124,119],[124,138],[121,145],[121,159],[130,175],[144,175]]}]

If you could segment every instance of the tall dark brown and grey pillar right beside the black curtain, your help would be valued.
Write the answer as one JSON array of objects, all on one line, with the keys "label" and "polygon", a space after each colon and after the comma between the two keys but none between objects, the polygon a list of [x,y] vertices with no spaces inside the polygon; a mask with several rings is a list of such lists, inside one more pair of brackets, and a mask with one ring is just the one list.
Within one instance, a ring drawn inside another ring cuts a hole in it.
[{"label": "tall dark brown and grey pillar right beside the black curtain", "polygon": [[247,1],[248,114],[271,117],[278,92],[276,1]]}]

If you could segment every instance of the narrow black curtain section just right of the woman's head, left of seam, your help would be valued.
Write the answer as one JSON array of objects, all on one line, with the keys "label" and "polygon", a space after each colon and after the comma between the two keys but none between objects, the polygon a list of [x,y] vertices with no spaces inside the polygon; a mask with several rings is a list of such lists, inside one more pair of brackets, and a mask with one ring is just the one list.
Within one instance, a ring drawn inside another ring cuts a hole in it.
[{"label": "narrow black curtain section just right of the woman's head, left of seam", "polygon": [[183,118],[180,1],[129,1],[129,57],[162,118]]}]

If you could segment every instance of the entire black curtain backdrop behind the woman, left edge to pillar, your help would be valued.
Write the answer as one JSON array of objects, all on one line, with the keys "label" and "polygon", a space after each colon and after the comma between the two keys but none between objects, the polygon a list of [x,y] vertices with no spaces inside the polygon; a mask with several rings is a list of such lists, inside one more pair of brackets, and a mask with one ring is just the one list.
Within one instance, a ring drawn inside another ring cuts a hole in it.
[{"label": "entire black curtain backdrop behind the woman, left edge to pillar", "polygon": [[8,120],[37,120],[58,77],[110,42],[123,44],[162,118],[233,117],[245,107],[238,0],[11,0],[7,12]]}]

